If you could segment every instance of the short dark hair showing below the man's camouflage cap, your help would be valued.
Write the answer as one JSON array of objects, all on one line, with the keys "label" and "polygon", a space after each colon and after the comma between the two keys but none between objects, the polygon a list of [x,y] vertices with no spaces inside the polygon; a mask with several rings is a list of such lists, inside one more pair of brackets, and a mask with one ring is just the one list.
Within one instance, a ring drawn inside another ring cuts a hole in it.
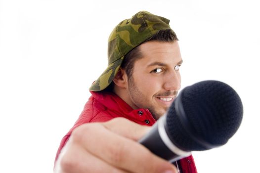
[{"label": "short dark hair showing below the man's camouflage cap", "polygon": [[[147,39],[145,42],[150,42],[150,41],[159,41],[159,42],[174,42],[178,41],[178,38],[174,31],[172,29],[167,29],[167,30],[160,30],[158,31],[155,35],[153,35],[151,38]],[[143,43],[145,43],[143,42]],[[139,45],[137,47],[134,47],[130,52],[128,52],[125,55],[125,58],[121,64],[121,68],[126,70],[126,73],[128,75],[128,79],[130,79],[132,75],[132,70],[134,66],[134,62],[138,59],[142,58],[142,53],[140,51]],[[114,88],[114,82],[106,87],[104,90],[105,91],[112,91]]]}]

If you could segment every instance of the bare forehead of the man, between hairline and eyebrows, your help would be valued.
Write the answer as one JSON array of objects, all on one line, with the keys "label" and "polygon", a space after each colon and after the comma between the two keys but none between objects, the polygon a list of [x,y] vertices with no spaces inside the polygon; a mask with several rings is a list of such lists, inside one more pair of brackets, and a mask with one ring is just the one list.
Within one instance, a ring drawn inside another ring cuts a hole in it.
[{"label": "bare forehead of the man, between hairline and eyebrows", "polygon": [[177,41],[159,42],[150,41],[139,46],[142,58],[136,61],[136,65],[145,66],[153,62],[162,62],[173,65],[182,60],[180,49]]}]

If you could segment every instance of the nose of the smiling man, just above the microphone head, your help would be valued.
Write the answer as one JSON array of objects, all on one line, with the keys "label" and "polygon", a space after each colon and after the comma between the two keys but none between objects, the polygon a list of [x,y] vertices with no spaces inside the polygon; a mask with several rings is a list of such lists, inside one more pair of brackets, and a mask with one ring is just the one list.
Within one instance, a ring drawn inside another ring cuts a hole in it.
[{"label": "nose of the smiling man, just above the microphone head", "polygon": [[165,77],[163,88],[165,90],[179,90],[180,89],[180,74],[176,71],[169,73]]}]

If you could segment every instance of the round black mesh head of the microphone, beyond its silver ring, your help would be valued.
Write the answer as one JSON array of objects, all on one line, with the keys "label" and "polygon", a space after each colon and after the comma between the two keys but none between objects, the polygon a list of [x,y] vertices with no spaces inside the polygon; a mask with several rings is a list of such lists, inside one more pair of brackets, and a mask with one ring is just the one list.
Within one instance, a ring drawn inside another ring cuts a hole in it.
[{"label": "round black mesh head of the microphone, beyond its silver ring", "polygon": [[172,104],[168,110],[166,128],[171,140],[180,149],[210,149],[200,141],[214,146],[223,145],[238,130],[243,106],[236,91],[227,84],[203,81],[185,87],[179,96],[189,127],[181,123],[182,117],[176,115]]}]

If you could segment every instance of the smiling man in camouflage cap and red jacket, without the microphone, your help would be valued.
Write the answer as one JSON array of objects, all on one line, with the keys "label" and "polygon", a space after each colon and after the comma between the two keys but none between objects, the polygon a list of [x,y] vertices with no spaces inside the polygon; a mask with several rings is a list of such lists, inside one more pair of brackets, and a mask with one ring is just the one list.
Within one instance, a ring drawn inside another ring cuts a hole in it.
[{"label": "smiling man in camouflage cap and red jacket, without the microphone", "polygon": [[180,88],[182,58],[169,22],[140,11],[112,31],[108,67],[61,141],[56,173],[197,173],[192,156],[174,167],[137,142],[150,129],[140,125],[164,115]]}]

